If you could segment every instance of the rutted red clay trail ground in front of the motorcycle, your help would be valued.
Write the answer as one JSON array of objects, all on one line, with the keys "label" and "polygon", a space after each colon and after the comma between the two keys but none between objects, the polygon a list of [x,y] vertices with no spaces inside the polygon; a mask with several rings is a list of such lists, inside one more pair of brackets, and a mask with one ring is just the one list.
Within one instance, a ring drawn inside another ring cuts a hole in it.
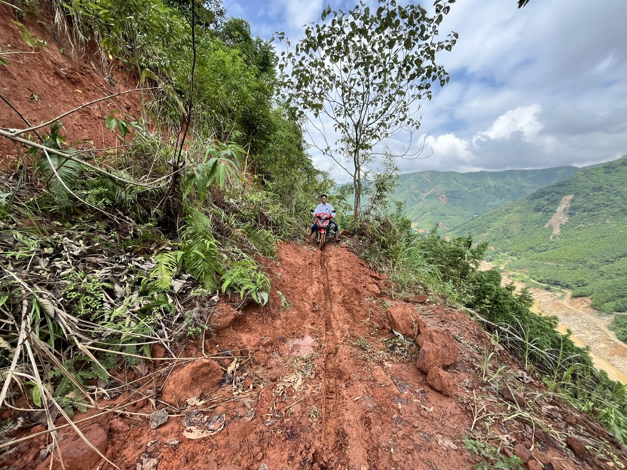
[{"label": "rutted red clay trail ground in front of the motorcycle", "polygon": [[[477,462],[463,438],[474,432],[510,446],[529,470],[605,469],[609,451],[627,457],[539,380],[525,385],[528,376],[506,352],[488,368],[492,376],[504,367],[499,390],[480,380],[493,345],[475,321],[424,297],[389,298],[387,281],[345,246],[321,253],[283,243],[267,264],[270,306],[237,311],[220,300],[213,338],[189,342],[183,360],[124,372],[124,380],[139,380],[99,401],[100,412],[113,411],[76,415],[95,415],[78,426],[120,469],[471,469]],[[413,340],[393,345],[391,323],[409,340],[418,335],[419,352]],[[149,419],[155,410],[167,416]],[[535,426],[515,412],[534,416]],[[58,436],[52,468],[60,454],[68,469],[112,468],[74,431]],[[48,469],[50,443],[20,442],[0,467]]]}]

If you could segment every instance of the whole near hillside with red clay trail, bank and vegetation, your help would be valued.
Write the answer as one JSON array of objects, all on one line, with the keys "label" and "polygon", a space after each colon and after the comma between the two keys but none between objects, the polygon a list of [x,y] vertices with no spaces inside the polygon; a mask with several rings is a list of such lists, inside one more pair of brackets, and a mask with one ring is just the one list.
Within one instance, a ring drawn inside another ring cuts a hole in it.
[{"label": "whole near hillside with red clay trail, bank and vegetation", "polygon": [[482,249],[308,244],[276,56],[190,6],[0,6],[0,469],[620,467],[624,387]]}]

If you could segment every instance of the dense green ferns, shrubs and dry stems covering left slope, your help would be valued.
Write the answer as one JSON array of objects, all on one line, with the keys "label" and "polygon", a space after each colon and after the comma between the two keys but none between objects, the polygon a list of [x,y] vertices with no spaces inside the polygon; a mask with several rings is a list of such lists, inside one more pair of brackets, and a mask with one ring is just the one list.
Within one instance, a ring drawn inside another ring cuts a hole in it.
[{"label": "dense green ferns, shrubs and dry stems covering left slope", "polygon": [[258,260],[301,236],[333,182],[276,98],[270,44],[219,1],[24,0],[17,13],[46,9],[61,42],[92,41],[142,82],[139,116],[103,118],[126,143],[115,153],[79,150],[60,119],[0,131],[30,147],[0,179],[0,402],[28,394],[71,414],[93,405],[88,382],[139,367],[155,343],[211,333],[216,295],[265,305]]}]

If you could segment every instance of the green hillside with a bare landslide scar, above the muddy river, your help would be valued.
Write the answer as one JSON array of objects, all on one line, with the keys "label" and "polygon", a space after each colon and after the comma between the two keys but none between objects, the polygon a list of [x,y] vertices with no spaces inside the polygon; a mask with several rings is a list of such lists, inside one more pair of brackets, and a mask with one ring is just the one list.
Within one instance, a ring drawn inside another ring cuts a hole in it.
[{"label": "green hillside with a bare landslide scar, above the muddy river", "polygon": [[627,311],[627,156],[585,169],[458,227],[542,283]]}]

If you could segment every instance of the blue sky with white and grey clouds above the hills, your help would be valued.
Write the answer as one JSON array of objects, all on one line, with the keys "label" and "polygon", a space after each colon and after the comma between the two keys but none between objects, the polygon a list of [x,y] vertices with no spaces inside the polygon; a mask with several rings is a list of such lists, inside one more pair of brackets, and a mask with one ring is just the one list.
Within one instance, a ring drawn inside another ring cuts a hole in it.
[{"label": "blue sky with white and grey clouds above the hills", "polygon": [[[285,31],[296,43],[327,5],[347,11],[357,2],[224,0],[224,6],[228,16],[250,22],[253,36]],[[459,34],[453,50],[437,59],[450,82],[430,102],[421,100],[419,110],[416,134],[429,157],[398,159],[401,172],[581,167],[627,154],[625,18],[627,0],[530,0],[522,9],[516,0],[458,0],[440,28]],[[315,149],[310,154],[317,167],[347,180]]]}]

